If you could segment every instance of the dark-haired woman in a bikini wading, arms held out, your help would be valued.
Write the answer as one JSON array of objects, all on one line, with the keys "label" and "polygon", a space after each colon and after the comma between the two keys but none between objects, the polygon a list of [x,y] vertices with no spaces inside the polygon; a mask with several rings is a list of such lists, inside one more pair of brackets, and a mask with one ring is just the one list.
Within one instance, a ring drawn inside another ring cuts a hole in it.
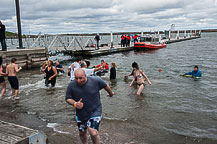
[{"label": "dark-haired woman in a bikini wading, arms held out", "polygon": [[143,91],[143,89],[145,88],[145,81],[143,79],[143,77],[145,78],[145,80],[148,82],[149,85],[151,85],[150,80],[148,79],[148,77],[145,75],[145,73],[140,70],[138,64],[136,62],[132,63],[132,67],[133,67],[133,80],[130,83],[130,87],[132,87],[134,81],[136,81],[136,85],[138,88],[137,91],[137,95],[140,95]]}]

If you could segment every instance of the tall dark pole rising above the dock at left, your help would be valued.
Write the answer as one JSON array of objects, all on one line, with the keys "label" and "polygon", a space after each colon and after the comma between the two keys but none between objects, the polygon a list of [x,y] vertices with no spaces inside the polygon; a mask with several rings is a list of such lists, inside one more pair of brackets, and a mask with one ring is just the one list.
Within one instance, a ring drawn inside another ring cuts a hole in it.
[{"label": "tall dark pole rising above the dock at left", "polygon": [[19,0],[15,0],[16,4],[16,14],[17,14],[17,28],[18,28],[18,40],[19,40],[19,47],[18,49],[23,48],[23,42],[22,42],[22,31],[21,31],[21,21],[20,21],[20,5]]}]

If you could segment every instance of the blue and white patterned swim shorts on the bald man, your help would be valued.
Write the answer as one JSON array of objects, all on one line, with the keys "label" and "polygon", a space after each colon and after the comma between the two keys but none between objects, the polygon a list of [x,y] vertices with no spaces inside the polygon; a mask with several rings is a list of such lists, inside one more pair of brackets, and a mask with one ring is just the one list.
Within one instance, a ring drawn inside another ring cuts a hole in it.
[{"label": "blue and white patterned swim shorts on the bald man", "polygon": [[85,122],[80,121],[77,116],[75,117],[75,119],[77,121],[79,131],[85,131],[88,127],[93,128],[98,131],[102,116],[92,117],[88,121],[85,121]]}]

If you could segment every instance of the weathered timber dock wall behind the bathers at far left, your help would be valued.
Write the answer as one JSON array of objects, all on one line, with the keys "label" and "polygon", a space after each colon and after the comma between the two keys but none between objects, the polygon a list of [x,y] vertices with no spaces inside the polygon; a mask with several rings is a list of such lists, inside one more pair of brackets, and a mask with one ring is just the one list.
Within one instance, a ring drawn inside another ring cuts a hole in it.
[{"label": "weathered timber dock wall behind the bathers at far left", "polygon": [[41,63],[46,61],[49,55],[46,48],[35,48],[0,51],[0,56],[4,66],[10,64],[12,58],[16,58],[19,66],[30,69],[40,67]]}]

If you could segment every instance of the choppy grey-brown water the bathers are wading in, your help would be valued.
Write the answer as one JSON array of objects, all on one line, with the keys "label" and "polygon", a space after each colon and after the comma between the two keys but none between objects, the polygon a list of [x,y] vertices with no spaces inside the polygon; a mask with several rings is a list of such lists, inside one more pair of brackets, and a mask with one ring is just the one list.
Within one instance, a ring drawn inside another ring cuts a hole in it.
[{"label": "choppy grey-brown water the bathers are wading in", "polygon": [[[101,91],[103,122],[116,126],[114,134],[122,130],[128,142],[175,144],[199,143],[205,139],[207,143],[217,143],[216,37],[217,33],[203,33],[200,39],[169,44],[165,49],[89,59],[92,65],[105,59],[118,66],[116,82],[103,77],[115,92],[109,98]],[[136,96],[137,90],[129,88],[131,79],[124,80],[134,61],[152,82],[151,86],[146,85],[142,96]],[[69,64],[63,64],[65,69]],[[194,65],[202,71],[202,79],[195,81],[179,76],[191,71]],[[57,78],[55,88],[44,86],[39,70],[22,71],[19,79],[20,107],[49,123],[74,123],[73,108],[64,100],[69,83],[67,74]]]}]

